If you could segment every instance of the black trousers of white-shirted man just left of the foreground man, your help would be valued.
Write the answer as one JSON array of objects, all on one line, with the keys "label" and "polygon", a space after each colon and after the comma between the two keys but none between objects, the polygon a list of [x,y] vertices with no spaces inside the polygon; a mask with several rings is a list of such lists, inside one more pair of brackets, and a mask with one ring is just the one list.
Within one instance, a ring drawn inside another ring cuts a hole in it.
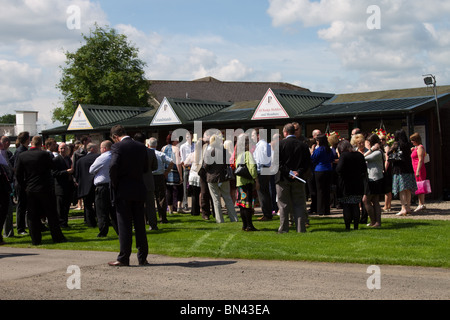
[{"label": "black trousers of white-shirted man just left of the foreground man", "polygon": [[117,234],[117,216],[111,203],[109,184],[100,184],[95,187],[95,213],[98,220],[99,236],[105,237],[112,226]]}]

